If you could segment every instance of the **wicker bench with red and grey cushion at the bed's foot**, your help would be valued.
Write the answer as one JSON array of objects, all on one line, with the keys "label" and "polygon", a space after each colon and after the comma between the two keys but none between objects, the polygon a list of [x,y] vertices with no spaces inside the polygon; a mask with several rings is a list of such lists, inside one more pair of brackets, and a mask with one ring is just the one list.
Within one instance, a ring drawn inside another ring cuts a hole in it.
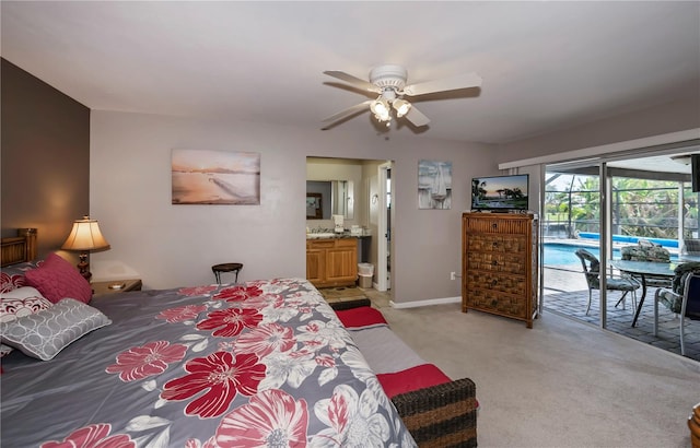
[{"label": "wicker bench with red and grey cushion at the bed's foot", "polygon": [[[330,305],[353,334],[370,366],[386,365],[386,359],[377,358],[375,344],[358,337],[359,331],[364,331],[365,323],[366,328],[384,327],[381,321],[386,323],[382,314],[370,307],[370,300]],[[397,353],[407,350],[396,335],[382,339],[389,350]],[[415,352],[401,357],[418,359]],[[432,364],[407,363],[417,365],[388,374],[380,373],[377,378],[419,447],[476,447],[478,402],[474,381],[469,378],[452,380]]]}]

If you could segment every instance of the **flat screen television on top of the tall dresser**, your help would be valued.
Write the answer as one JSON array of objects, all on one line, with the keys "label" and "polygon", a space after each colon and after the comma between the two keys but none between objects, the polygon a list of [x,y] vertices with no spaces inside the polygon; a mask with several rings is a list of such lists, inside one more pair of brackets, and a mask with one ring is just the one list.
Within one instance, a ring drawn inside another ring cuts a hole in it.
[{"label": "flat screen television on top of the tall dresser", "polygon": [[527,186],[529,175],[475,177],[471,179],[471,210],[529,210]]}]

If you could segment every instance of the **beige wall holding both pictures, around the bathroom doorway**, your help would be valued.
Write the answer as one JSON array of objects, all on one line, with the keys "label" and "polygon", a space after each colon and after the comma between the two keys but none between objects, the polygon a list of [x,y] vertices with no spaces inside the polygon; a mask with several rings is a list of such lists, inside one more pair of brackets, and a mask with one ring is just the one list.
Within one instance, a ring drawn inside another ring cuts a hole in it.
[{"label": "beige wall holding both pictures, around the bathroom doorway", "polygon": [[[462,264],[469,182],[498,172],[487,145],[412,134],[385,140],[371,129],[304,131],[93,111],[91,140],[91,213],[112,244],[93,259],[127,264],[147,288],[211,283],[211,264],[226,261],[245,264],[242,280],[305,276],[303,198],[306,156],[314,155],[395,161],[394,299],[458,297],[450,272]],[[260,205],[172,205],[172,149],[260,153]],[[452,210],[418,210],[421,158],[453,163]]]}]

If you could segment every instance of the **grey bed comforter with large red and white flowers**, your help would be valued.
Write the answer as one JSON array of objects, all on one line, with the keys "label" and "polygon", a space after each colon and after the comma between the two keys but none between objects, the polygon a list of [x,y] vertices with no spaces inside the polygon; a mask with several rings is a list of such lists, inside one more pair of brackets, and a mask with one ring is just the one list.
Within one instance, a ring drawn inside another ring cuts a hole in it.
[{"label": "grey bed comforter with large red and white flowers", "polygon": [[2,358],[1,445],[416,446],[303,279],[95,297],[113,323]]}]

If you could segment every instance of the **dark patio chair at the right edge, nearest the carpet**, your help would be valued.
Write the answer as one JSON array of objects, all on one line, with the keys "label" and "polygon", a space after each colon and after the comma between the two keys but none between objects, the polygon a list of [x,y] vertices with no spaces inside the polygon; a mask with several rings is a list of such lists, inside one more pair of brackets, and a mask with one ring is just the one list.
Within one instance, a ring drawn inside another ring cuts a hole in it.
[{"label": "dark patio chair at the right edge, nearest the carpet", "polygon": [[700,262],[679,264],[672,290],[658,288],[654,295],[654,335],[658,330],[658,304],[680,317],[680,354],[686,354],[684,328],[686,318],[700,320]]}]

